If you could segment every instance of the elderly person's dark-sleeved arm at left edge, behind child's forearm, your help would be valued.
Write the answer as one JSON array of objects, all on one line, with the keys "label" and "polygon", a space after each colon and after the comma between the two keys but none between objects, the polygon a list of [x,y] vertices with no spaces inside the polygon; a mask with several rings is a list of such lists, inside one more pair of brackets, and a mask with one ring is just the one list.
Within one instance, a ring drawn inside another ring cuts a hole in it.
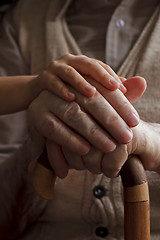
[{"label": "elderly person's dark-sleeved arm at left edge, behind child's forearm", "polygon": [[[29,67],[16,40],[11,11],[0,25],[0,75],[28,73]],[[24,112],[0,118],[0,239],[17,239],[46,204],[35,194],[27,173],[30,159],[26,155],[26,137]]]}]

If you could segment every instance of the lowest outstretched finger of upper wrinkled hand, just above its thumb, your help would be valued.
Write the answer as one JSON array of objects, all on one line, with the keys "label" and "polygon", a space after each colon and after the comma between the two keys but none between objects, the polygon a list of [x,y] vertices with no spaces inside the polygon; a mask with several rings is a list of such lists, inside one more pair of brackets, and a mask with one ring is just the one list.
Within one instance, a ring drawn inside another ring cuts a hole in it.
[{"label": "lowest outstretched finger of upper wrinkled hand, just above its thumb", "polygon": [[[48,95],[52,96],[53,98],[48,98]],[[90,149],[89,143],[81,136],[73,132],[70,128],[68,128],[60,119],[58,119],[53,114],[53,111],[51,112],[49,108],[46,108],[45,103],[47,101],[49,101],[50,104],[56,101],[54,97],[58,98],[55,95],[44,91],[30,105],[29,122],[32,126],[32,132],[38,132],[38,134],[40,136],[43,136],[43,138],[54,141],[60,146],[64,146],[79,155],[86,154]],[[55,103],[54,107],[58,109],[59,103]]]}]

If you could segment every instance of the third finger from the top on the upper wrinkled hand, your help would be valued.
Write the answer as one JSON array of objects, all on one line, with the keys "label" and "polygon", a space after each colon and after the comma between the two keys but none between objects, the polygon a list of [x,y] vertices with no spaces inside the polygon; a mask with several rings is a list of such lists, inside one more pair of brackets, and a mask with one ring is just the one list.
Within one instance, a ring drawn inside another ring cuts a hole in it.
[{"label": "third finger from the top on the upper wrinkled hand", "polygon": [[[51,93],[44,94],[47,94],[45,98],[48,102],[48,111],[52,112],[53,115],[56,116],[56,121],[63,121],[66,125],[87,139],[91,144],[104,152],[113,151],[115,149],[115,141],[90,117],[90,115],[86,114],[76,102],[66,102],[63,99],[52,95]],[[50,122],[53,121],[52,116],[48,116],[48,118],[50,118]],[[67,126],[63,123],[61,125],[63,126],[63,132],[64,130],[67,131]],[[50,129],[50,134],[48,135],[49,137],[53,135],[52,138],[55,136],[56,142],[58,144],[62,145],[63,143],[62,146],[65,144],[67,147],[67,145],[71,144],[72,138],[74,137],[75,139],[75,136],[77,136],[77,134],[74,133],[71,129],[68,129],[68,132],[70,133],[69,137],[71,139],[59,139],[59,136],[57,134],[62,135],[62,132],[61,129],[58,129],[57,126],[55,126],[54,129]],[[73,136],[71,136],[71,133]],[[67,135],[67,132],[65,132],[65,134]],[[79,138],[81,139],[81,137]],[[74,142],[74,139],[72,142]],[[68,143],[65,142],[66,140]]]}]

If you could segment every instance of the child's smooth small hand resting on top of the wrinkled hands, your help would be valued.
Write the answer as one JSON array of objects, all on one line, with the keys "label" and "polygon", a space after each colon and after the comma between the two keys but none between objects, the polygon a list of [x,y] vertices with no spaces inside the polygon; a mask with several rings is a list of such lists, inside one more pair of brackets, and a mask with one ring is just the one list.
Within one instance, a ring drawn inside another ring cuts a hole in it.
[{"label": "child's smooth small hand resting on top of the wrinkled hands", "polygon": [[75,94],[67,85],[72,86],[84,96],[91,97],[96,89],[83,76],[90,77],[109,90],[119,88],[123,93],[126,88],[116,73],[101,61],[83,55],[67,54],[50,63],[37,78],[40,91],[47,89],[67,101],[73,101]]}]

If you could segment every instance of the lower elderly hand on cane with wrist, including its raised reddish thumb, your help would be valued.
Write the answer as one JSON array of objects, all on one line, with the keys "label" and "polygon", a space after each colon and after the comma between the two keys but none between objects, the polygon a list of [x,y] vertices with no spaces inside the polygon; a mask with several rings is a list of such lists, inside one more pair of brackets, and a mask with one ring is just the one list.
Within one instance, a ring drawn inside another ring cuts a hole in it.
[{"label": "lower elderly hand on cane with wrist, including its raised reddish thumb", "polygon": [[[127,91],[126,95],[132,103],[142,95],[146,88],[144,79],[138,77],[127,80],[125,85],[130,89]],[[135,92],[135,87],[138,87],[138,91],[133,94]],[[98,90],[103,94],[103,87],[99,86]],[[108,98],[109,95],[106,93],[106,90],[104,93]],[[156,165],[159,166],[159,161],[157,159],[160,159],[157,155],[155,157],[159,145],[157,143],[155,144],[155,139],[159,139],[156,131],[151,131],[148,125],[142,121],[138,126],[134,127],[132,131],[133,138],[129,143],[117,143],[116,149],[107,153],[92,146],[88,154],[78,156],[77,154],[68,151],[68,149],[63,148],[63,154],[67,160],[69,168],[77,170],[88,169],[92,173],[98,174],[103,172],[108,177],[115,177],[130,154],[138,154],[146,169],[153,170],[158,168],[155,167]],[[157,135],[157,137],[155,135]],[[149,141],[150,139],[152,139],[153,144]],[[53,166],[55,165],[56,162]],[[58,167],[60,168],[62,166],[59,164]]]}]

